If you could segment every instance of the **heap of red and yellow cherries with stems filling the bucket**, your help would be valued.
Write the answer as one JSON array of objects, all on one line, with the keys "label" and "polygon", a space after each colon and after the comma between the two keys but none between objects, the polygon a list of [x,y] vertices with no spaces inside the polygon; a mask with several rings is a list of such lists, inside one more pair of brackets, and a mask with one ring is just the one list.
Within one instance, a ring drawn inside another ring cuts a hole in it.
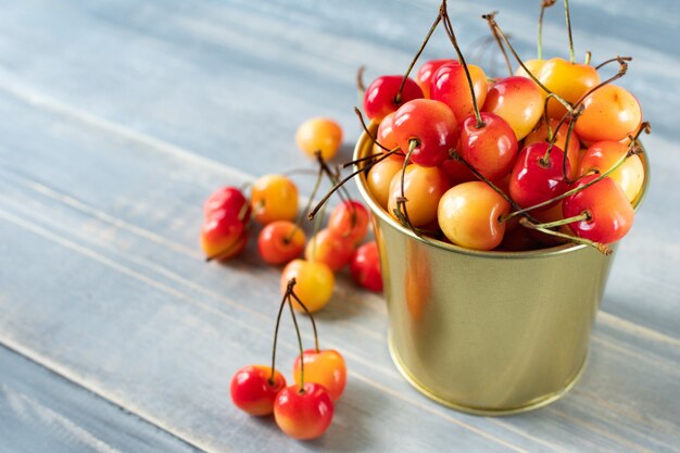
[{"label": "heap of red and yellow cherries with stems filling the bucket", "polygon": [[[554,1],[543,2],[543,9]],[[445,0],[406,75],[378,77],[364,92],[374,153],[363,160],[367,185],[390,215],[418,235],[475,250],[531,250],[572,240],[618,241],[633,222],[644,165],[637,139],[648,131],[638,100],[613,85],[628,67],[617,56],[599,66],[553,58],[522,62],[486,15],[501,49],[519,63],[489,79],[467,64]],[[457,59],[408,74],[443,24]],[[539,46],[540,49],[540,46]],[[618,63],[602,79],[601,70]],[[361,116],[361,115],[360,115]],[[519,225],[526,227],[520,228]]]}]

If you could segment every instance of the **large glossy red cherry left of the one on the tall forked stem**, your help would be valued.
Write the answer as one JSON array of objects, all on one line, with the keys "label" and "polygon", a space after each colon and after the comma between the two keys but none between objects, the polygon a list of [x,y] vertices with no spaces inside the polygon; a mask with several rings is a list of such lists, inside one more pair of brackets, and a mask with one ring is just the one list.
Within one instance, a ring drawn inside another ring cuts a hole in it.
[{"label": "large glossy red cherry left of the one on the tall forked stem", "polygon": [[420,166],[440,165],[458,140],[455,115],[446,104],[431,99],[415,99],[402,105],[394,114],[392,130],[404,153],[416,140],[411,161]]}]

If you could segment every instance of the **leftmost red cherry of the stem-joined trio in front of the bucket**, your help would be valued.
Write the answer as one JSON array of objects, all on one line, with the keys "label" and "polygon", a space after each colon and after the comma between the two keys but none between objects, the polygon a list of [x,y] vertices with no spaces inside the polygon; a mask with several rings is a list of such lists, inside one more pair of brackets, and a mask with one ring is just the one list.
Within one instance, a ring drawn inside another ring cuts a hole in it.
[{"label": "leftmost red cherry of the stem-joined trio in front of the bucket", "polygon": [[231,378],[231,401],[250,415],[268,415],[274,412],[274,401],[286,388],[286,379],[278,372],[264,365],[244,366]]}]

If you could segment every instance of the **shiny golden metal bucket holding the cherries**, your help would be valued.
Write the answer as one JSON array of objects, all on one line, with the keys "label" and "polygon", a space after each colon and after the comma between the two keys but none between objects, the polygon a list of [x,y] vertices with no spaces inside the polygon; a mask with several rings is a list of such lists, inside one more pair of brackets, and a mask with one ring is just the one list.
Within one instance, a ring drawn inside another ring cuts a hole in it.
[{"label": "shiny golden metal bucket holding the cherries", "polygon": [[[354,159],[372,147],[363,134]],[[642,194],[647,183],[648,172]],[[614,254],[574,244],[478,252],[425,241],[374,200],[365,174],[357,184],[373,211],[390,353],[408,382],[441,404],[481,415],[541,407],[574,387]]]}]

